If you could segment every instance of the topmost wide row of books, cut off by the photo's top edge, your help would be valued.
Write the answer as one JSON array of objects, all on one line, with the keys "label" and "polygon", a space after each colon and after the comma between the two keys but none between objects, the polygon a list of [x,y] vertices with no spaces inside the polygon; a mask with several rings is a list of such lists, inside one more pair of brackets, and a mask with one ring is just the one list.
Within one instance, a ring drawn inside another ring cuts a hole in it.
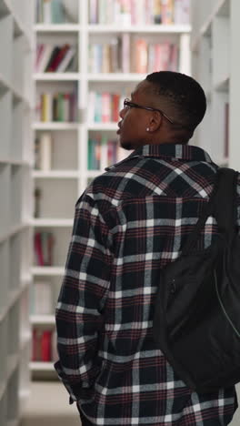
[{"label": "topmost wide row of books, cut off by the photo's top edge", "polygon": [[189,24],[190,0],[89,0],[90,24]]}]

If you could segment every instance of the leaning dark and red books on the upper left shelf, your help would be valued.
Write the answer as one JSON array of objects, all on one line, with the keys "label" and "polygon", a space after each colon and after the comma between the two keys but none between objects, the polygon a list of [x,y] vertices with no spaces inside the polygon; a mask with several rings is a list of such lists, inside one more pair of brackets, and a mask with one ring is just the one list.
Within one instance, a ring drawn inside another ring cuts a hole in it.
[{"label": "leaning dark and red books on the upper left shelf", "polygon": [[35,73],[65,73],[77,71],[77,47],[65,44],[52,46],[38,44],[35,55]]}]

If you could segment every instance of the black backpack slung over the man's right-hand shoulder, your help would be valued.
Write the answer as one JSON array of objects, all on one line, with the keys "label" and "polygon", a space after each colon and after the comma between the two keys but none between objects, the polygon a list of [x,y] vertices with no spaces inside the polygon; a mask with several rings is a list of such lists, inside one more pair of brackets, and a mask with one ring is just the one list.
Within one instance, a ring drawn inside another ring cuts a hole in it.
[{"label": "black backpack slung over the man's right-hand shoulder", "polygon": [[[220,168],[205,211],[178,259],[160,272],[153,332],[175,373],[194,391],[240,381],[240,237],[238,173]],[[195,242],[208,216],[219,234],[205,250]]]}]

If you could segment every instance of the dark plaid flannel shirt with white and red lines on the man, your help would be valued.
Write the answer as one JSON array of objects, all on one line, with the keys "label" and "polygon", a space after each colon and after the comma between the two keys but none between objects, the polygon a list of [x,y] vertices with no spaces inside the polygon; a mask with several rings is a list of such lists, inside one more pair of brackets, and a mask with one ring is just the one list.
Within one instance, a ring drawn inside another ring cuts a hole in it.
[{"label": "dark plaid flannel shirt with white and red lines on the man", "polygon": [[[55,370],[94,424],[212,426],[233,417],[235,388],[191,391],[152,335],[159,269],[180,255],[216,169],[199,147],[139,147],[96,177],[75,205]],[[210,217],[196,249],[216,234]]]}]

